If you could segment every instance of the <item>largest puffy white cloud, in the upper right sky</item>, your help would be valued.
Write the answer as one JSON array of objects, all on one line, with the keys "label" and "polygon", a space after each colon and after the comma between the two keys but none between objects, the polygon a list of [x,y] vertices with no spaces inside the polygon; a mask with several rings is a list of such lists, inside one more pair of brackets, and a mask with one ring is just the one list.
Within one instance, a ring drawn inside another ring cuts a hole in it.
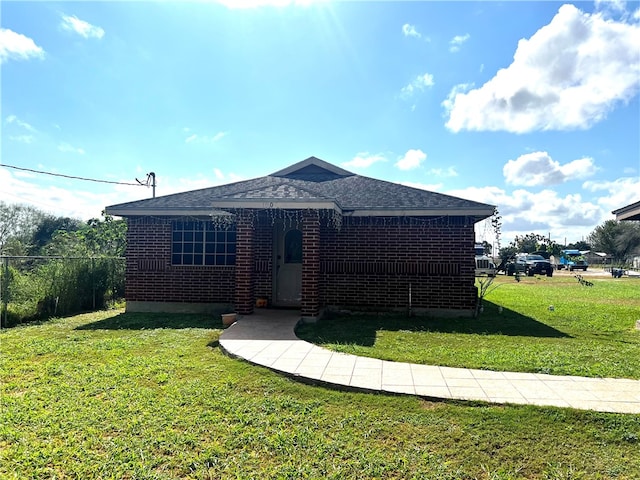
[{"label": "largest puffy white cloud, in the upper right sky", "polygon": [[522,39],[513,63],[467,93],[443,102],[454,131],[585,129],[640,87],[640,25],[563,5]]}]

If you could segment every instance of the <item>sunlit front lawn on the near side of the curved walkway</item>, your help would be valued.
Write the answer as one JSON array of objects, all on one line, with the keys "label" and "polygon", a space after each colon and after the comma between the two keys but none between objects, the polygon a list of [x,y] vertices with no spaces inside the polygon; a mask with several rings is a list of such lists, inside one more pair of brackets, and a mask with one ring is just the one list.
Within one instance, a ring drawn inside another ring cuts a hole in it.
[{"label": "sunlit front lawn on the near side of the curved walkway", "polygon": [[2,331],[0,478],[640,475],[639,415],[309,386],[226,357],[221,328],[111,311]]}]

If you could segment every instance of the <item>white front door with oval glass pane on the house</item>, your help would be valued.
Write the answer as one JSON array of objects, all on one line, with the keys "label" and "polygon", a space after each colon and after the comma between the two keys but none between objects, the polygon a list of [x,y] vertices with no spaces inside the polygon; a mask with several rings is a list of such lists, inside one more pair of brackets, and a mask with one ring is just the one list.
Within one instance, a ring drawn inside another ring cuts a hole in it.
[{"label": "white front door with oval glass pane on the house", "polygon": [[300,306],[302,299],[302,231],[277,225],[274,245],[276,305]]}]

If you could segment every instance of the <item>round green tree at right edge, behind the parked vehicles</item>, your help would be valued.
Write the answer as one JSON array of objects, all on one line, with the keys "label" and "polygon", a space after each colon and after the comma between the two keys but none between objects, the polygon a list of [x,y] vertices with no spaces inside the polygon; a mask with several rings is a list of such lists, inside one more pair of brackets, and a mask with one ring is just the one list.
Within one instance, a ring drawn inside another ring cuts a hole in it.
[{"label": "round green tree at right edge, behind the parked vehicles", "polygon": [[607,220],[587,238],[594,250],[610,254],[615,262],[625,263],[640,248],[640,224]]}]

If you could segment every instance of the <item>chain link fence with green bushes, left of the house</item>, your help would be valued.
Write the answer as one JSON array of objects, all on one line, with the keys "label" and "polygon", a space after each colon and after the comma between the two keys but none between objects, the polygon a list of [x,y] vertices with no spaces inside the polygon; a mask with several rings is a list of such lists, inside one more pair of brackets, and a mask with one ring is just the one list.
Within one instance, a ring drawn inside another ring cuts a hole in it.
[{"label": "chain link fence with green bushes, left of the house", "polygon": [[101,310],[124,298],[122,257],[0,256],[0,322]]}]

